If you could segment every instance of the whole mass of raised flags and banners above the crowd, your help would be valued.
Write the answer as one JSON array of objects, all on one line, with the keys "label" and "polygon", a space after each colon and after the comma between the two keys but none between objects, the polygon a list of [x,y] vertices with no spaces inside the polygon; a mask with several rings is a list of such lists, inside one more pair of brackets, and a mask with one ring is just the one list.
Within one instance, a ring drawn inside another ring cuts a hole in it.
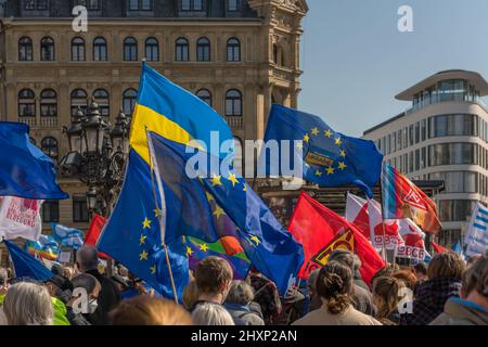
[{"label": "whole mass of raised flags and banners above the crowd", "polygon": [[[107,219],[95,216],[86,235],[59,223],[52,224],[51,235],[43,235],[42,202],[68,196],[55,181],[52,162],[29,142],[28,127],[0,123],[0,236],[16,275],[39,271],[39,279],[46,280],[36,258],[55,261],[63,247],[93,245],[100,257],[124,265],[164,297],[181,301],[191,272],[208,256],[228,260],[234,279],[245,279],[254,269],[282,295],[325,266],[336,249],[357,255],[369,285],[387,266],[386,250],[394,252],[394,259],[415,264],[432,258],[425,234],[441,230],[435,203],[384,164],[372,141],[336,132],[314,115],[272,106],[265,141],[290,141],[290,151],[299,153],[298,163],[290,165],[300,166],[306,181],[355,184],[367,197],[349,193],[342,217],[301,192],[286,230],[231,167],[214,171],[224,167],[226,154],[198,145],[188,151],[190,140],[209,144],[210,131],[219,132],[221,143],[233,139],[214,110],[143,63],[131,149],[113,213]],[[189,172],[195,155],[205,164]],[[266,153],[260,160],[267,175],[282,176],[286,157],[279,153],[279,167]],[[373,200],[375,184],[381,185],[382,202]],[[484,254],[487,227],[488,209],[478,204],[454,252]],[[8,241],[16,237],[27,241],[25,252]],[[433,246],[436,253],[447,252]]]}]

